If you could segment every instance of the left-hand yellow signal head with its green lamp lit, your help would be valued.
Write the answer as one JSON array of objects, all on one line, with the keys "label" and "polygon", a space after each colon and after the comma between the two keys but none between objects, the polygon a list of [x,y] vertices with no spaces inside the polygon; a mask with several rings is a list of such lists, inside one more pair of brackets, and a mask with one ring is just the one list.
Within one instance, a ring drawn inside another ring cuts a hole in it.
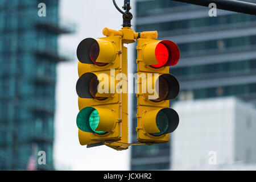
[{"label": "left-hand yellow signal head with its green lamp lit", "polygon": [[127,49],[122,37],[86,38],[77,47],[77,58],[80,144],[127,143],[127,92],[122,92],[127,89]]}]

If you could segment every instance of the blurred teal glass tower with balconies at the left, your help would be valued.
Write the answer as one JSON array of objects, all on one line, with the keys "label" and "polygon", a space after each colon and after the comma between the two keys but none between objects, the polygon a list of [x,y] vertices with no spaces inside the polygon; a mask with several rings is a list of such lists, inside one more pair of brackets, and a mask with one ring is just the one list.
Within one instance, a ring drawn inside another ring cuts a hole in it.
[{"label": "blurred teal glass tower with balconies at the left", "polygon": [[[57,37],[74,31],[59,21],[58,7],[0,0],[0,170],[54,169],[56,64],[70,58],[58,53]],[[38,165],[38,151],[46,165]]]}]

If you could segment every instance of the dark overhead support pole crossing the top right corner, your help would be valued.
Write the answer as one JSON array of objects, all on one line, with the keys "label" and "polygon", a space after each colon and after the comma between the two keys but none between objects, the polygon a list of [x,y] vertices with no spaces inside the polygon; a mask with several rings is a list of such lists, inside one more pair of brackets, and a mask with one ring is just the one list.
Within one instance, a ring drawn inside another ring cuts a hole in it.
[{"label": "dark overhead support pole crossing the top right corner", "polygon": [[209,7],[210,3],[215,3],[217,9],[234,11],[237,13],[256,15],[256,4],[250,2],[236,1],[236,0],[171,0],[177,2],[189,3],[192,5],[199,5]]}]

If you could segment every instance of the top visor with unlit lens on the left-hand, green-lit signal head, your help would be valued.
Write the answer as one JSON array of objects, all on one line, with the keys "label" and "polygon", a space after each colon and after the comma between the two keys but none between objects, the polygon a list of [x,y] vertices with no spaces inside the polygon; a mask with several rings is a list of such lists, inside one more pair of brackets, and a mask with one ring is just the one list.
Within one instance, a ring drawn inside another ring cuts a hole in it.
[{"label": "top visor with unlit lens on the left-hand, green-lit signal head", "polygon": [[115,49],[110,40],[86,38],[77,47],[76,55],[81,63],[104,66],[114,59]]}]

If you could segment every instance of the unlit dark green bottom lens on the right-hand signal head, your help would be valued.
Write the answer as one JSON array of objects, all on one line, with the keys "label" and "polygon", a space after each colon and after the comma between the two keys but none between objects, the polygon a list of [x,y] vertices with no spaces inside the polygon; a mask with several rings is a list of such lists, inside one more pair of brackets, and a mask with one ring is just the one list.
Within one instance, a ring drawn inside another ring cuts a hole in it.
[{"label": "unlit dark green bottom lens on the right-hand signal head", "polygon": [[163,110],[160,110],[158,114],[156,115],[156,126],[158,126],[158,129],[160,130],[159,133],[151,133],[151,135],[154,136],[160,136],[164,134],[169,126],[169,119],[167,117],[167,114],[164,113]]}]

